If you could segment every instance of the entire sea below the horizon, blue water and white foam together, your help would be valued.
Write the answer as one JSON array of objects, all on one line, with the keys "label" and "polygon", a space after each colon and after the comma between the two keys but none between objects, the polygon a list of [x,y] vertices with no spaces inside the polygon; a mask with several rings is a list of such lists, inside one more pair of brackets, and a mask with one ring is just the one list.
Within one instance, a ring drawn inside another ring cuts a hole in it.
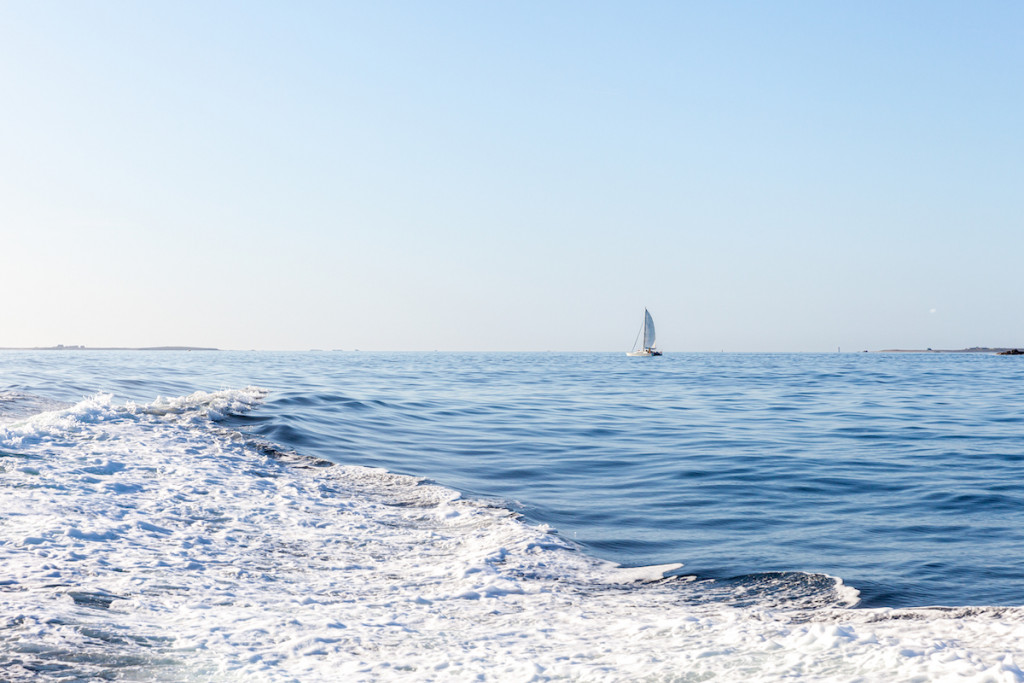
[{"label": "entire sea below the horizon, blue water and white foam together", "polygon": [[1018,357],[0,368],[0,680],[1024,681]]}]

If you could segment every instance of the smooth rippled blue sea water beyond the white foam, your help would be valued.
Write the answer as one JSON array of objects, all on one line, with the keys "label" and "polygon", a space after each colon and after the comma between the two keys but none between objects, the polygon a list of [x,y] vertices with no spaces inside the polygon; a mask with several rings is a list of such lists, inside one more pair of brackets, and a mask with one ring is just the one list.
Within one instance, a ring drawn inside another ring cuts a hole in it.
[{"label": "smooth rippled blue sea water beyond the white foam", "polygon": [[227,424],[425,477],[585,552],[860,607],[1024,604],[1024,361],[989,354],[3,352],[14,419],[256,385]]}]

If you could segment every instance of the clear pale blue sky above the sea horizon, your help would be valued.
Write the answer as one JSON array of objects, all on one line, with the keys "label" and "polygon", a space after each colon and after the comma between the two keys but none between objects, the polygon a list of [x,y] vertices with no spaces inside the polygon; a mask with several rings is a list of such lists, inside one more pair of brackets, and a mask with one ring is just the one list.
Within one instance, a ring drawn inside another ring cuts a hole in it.
[{"label": "clear pale blue sky above the sea horizon", "polygon": [[0,346],[1024,346],[1024,4],[0,0]]}]

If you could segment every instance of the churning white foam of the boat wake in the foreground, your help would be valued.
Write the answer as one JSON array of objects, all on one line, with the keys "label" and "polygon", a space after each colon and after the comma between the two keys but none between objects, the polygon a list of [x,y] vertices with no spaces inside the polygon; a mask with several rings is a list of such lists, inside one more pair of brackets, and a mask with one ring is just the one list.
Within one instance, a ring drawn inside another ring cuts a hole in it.
[{"label": "churning white foam of the boat wake in the foreground", "polygon": [[1020,609],[658,580],[670,567],[210,422],[263,395],[101,395],[0,425],[4,679],[1024,680]]}]

